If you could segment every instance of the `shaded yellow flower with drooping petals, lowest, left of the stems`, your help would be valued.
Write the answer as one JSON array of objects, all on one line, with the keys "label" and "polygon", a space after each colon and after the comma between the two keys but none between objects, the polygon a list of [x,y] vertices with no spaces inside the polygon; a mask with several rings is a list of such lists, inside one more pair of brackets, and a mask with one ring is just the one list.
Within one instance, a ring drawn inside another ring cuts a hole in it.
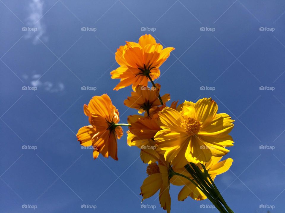
[{"label": "shaded yellow flower with drooping petals, lowest, left of the stems", "polygon": [[161,207],[170,213],[171,198],[169,194],[169,164],[167,162],[159,161],[159,165],[151,163],[148,165],[146,172],[148,177],[143,181],[140,187],[143,200],[150,198],[159,190],[159,202]]}]

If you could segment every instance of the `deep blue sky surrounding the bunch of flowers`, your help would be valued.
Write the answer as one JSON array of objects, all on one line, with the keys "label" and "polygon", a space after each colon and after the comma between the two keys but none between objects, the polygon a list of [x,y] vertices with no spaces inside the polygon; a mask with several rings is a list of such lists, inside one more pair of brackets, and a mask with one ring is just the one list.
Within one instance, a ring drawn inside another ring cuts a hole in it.
[{"label": "deep blue sky surrounding the bunch of flowers", "polygon": [[[83,104],[92,96],[107,93],[122,122],[136,113],[123,104],[131,88],[113,91],[110,71],[116,49],[145,33],[175,47],[156,80],[162,94],[212,97],[236,120],[225,156],[233,165],[215,180],[229,206],[284,211],[284,11],[284,1],[1,0],[1,212],[165,212],[157,194],[144,201],[156,209],[140,208],[146,165],[126,133],[117,162],[93,160],[75,136],[88,125]],[[208,200],[177,201],[180,189],[171,186],[172,212],[217,212],[200,208]]]}]

